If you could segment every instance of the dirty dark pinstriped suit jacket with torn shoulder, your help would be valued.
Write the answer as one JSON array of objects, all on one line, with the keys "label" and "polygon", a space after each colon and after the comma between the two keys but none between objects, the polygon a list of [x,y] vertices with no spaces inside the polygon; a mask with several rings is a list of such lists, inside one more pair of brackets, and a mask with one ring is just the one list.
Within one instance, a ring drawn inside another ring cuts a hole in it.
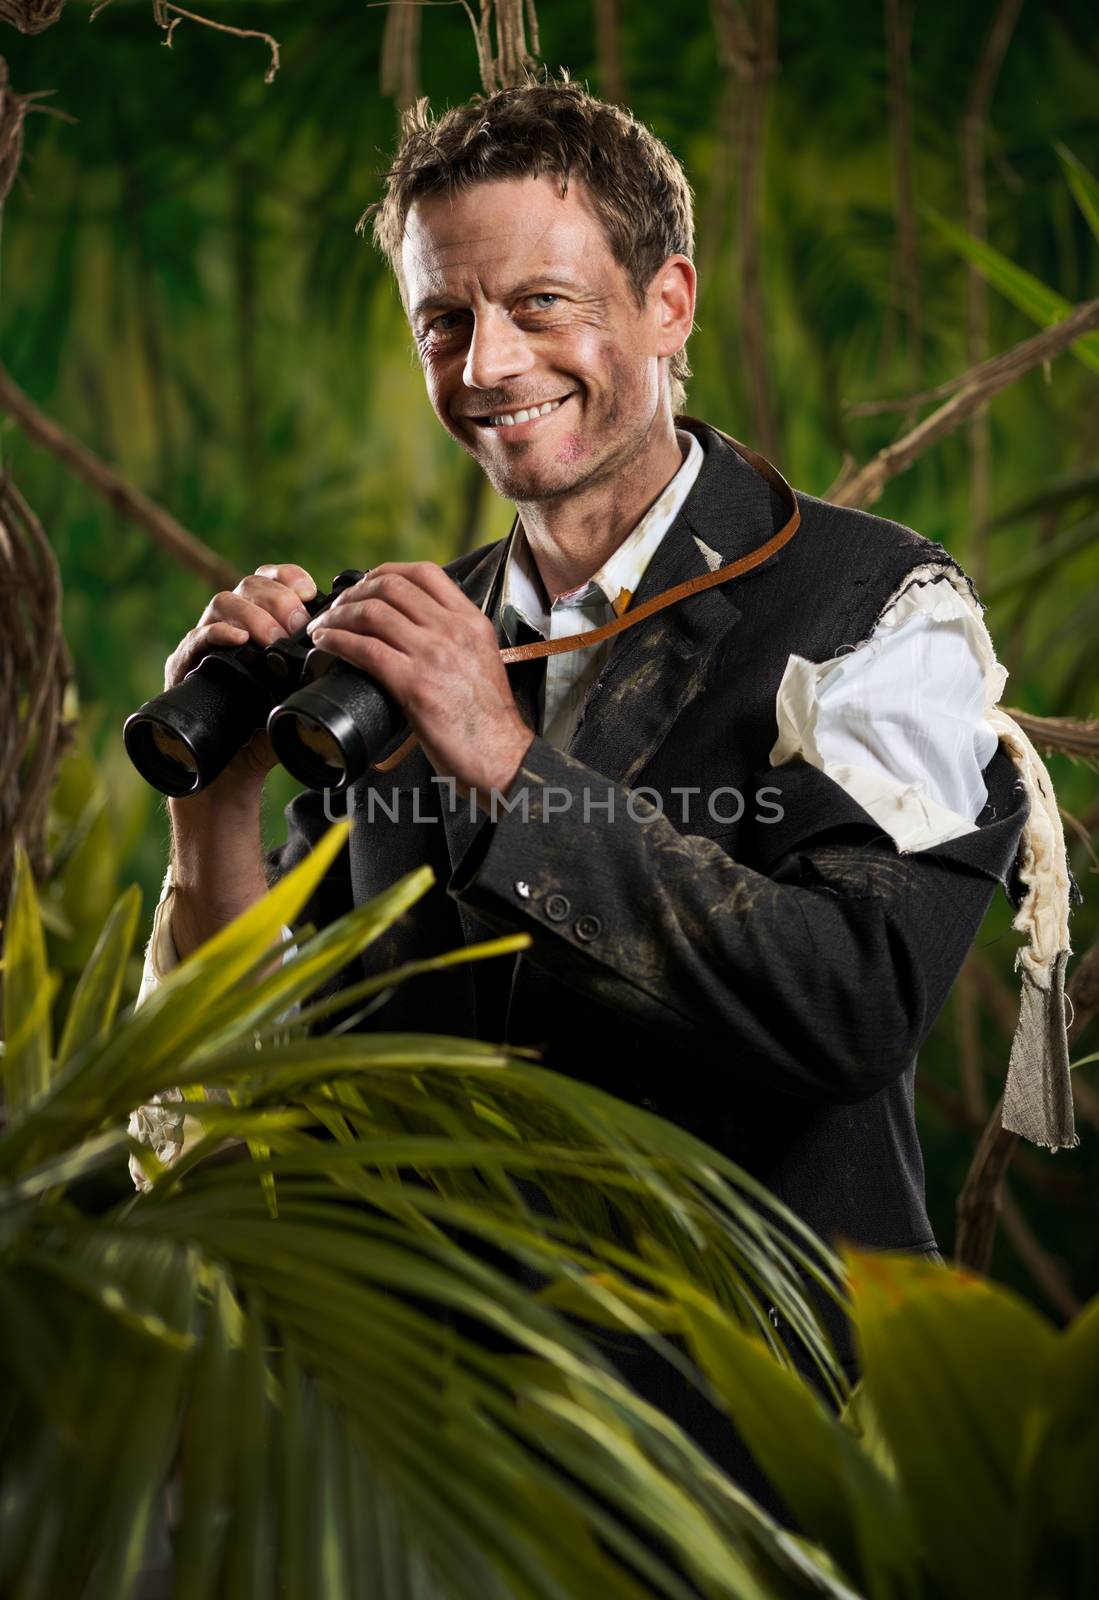
[{"label": "dirty dark pinstriped suit jacket with torn shoulder", "polygon": [[[704,573],[701,546],[731,562],[789,512],[723,435],[691,426],[707,459],[635,605]],[[371,947],[371,970],[496,931],[528,931],[531,950],[406,986],[370,1026],[430,1014],[438,1032],[536,1045],[699,1133],[825,1238],[929,1250],[915,1056],[997,882],[1017,888],[1027,798],[998,750],[977,832],[901,856],[830,778],[769,768],[790,653],[857,645],[905,573],[957,566],[897,523],[798,502],[801,528],[769,562],[616,640],[569,750],[534,738],[509,797],[526,790],[525,816],[448,805],[421,750],[360,782],[349,850],[309,914],[328,922],[430,862],[435,890]],[[485,605],[502,555],[448,571]],[[664,814],[646,818],[638,789]],[[326,826],[320,797],[288,821],[277,870]]]}]

